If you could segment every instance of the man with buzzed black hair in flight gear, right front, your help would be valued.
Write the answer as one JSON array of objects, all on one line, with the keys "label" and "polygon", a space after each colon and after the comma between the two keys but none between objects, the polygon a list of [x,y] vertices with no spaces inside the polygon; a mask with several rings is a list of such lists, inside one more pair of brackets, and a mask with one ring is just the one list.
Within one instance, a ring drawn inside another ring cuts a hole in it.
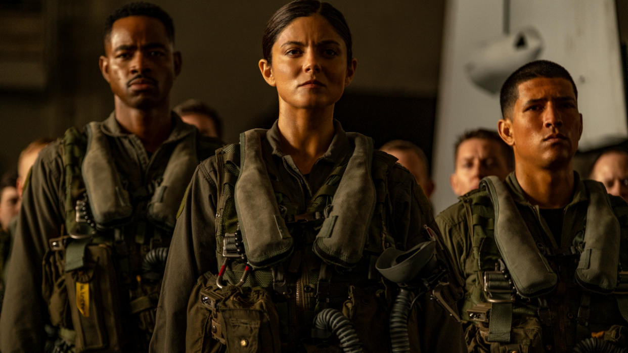
[{"label": "man with buzzed black hair in flight gear, right front", "polygon": [[484,178],[436,218],[465,286],[469,352],[626,347],[628,206],[573,171],[577,94],[556,63],[515,71],[498,124],[515,171]]}]

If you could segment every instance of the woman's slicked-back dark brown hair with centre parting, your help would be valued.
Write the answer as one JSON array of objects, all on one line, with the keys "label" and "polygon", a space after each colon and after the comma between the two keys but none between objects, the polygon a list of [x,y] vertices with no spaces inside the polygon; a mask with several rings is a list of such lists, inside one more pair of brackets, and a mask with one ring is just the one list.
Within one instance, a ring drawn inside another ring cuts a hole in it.
[{"label": "woman's slicked-back dark brown hair with centre parting", "polygon": [[351,31],[349,25],[338,9],[334,8],[330,3],[322,3],[317,0],[295,0],[284,6],[281,6],[276,13],[268,20],[264,33],[262,34],[262,55],[264,59],[272,65],[272,49],[277,41],[279,34],[288,24],[300,17],[309,17],[313,14],[320,14],[327,22],[332,25],[333,29],[338,33],[340,38],[347,46],[347,65],[353,60]]}]

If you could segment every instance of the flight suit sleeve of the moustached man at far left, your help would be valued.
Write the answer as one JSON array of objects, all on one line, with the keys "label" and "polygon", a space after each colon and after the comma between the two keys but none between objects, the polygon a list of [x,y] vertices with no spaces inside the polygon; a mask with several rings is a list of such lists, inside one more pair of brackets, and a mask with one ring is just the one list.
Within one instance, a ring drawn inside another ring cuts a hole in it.
[{"label": "flight suit sleeve of the moustached man at far left", "polygon": [[0,315],[2,352],[42,352],[48,308],[41,293],[41,263],[48,238],[60,234],[63,218],[63,159],[59,142],[41,150],[24,187]]}]

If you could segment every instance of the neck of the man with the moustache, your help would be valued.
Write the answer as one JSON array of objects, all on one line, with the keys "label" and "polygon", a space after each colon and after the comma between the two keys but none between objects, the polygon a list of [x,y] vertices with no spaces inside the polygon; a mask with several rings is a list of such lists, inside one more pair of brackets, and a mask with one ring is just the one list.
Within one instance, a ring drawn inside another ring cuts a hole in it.
[{"label": "neck of the man with the moustache", "polygon": [[172,129],[170,105],[157,105],[146,110],[129,107],[116,97],[116,120],[127,132],[137,135],[148,152],[154,152],[168,139]]}]

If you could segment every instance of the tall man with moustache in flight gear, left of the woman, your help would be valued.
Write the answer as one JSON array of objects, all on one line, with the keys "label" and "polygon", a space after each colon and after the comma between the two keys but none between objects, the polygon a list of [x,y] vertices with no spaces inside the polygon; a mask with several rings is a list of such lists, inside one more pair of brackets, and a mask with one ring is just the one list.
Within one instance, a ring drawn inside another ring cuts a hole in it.
[{"label": "tall man with moustache in flight gear, left of the woman", "polygon": [[68,130],[31,170],[3,352],[148,350],[176,212],[198,162],[219,147],[170,110],[181,69],[173,45],[172,20],[153,4],[107,19],[100,70],[114,112]]}]

